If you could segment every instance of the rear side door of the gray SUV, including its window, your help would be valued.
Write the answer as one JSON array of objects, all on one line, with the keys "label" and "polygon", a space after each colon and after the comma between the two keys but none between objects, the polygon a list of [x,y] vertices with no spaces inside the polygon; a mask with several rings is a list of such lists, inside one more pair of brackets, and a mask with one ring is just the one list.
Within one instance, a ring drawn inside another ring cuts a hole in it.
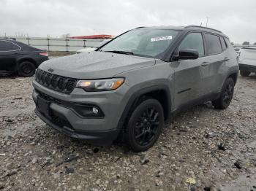
[{"label": "rear side door of the gray SUV, including its window", "polygon": [[[225,62],[229,60],[227,58],[225,44],[222,45],[222,36],[216,34],[204,34],[205,45],[206,45],[206,63],[201,65],[202,74],[202,92],[206,96],[214,95],[220,91],[222,87],[222,81],[225,70]],[[223,46],[223,48],[222,48]]]}]

